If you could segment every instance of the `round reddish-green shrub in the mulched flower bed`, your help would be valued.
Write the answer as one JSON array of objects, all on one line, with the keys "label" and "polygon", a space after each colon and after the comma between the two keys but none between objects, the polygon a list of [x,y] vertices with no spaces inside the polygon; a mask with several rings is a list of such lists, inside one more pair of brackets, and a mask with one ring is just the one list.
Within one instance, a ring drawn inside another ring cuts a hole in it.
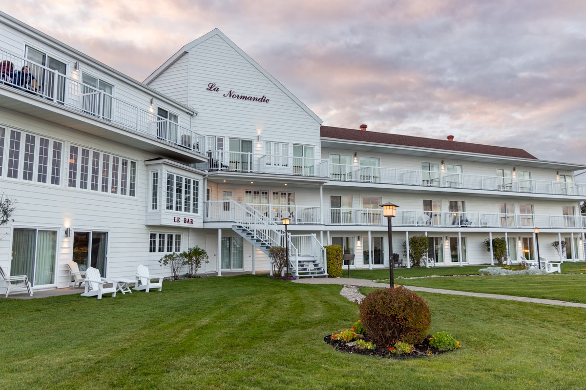
[{"label": "round reddish-green shrub in the mulched flower bed", "polygon": [[362,326],[377,345],[419,344],[430,330],[431,313],[427,303],[402,286],[371,292],[359,309]]}]

